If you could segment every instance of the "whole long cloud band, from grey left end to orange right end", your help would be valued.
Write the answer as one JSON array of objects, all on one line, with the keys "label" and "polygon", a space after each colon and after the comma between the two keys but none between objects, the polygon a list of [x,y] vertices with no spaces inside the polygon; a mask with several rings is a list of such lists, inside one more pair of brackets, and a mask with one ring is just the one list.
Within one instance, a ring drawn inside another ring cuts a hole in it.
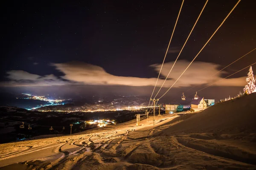
[{"label": "whole long cloud band, from grey left end to orange right end", "polygon": [[[163,87],[169,88],[180,76],[183,70],[189,65],[189,61],[178,60],[166,80]],[[167,62],[163,65],[161,76],[157,86],[161,86],[168,75],[174,62]],[[85,62],[51,63],[56,70],[62,72],[64,76],[56,77],[53,74],[39,76],[26,71],[12,70],[6,74],[9,81],[1,82],[5,86],[50,86],[50,85],[125,85],[125,86],[154,86],[157,78],[122,77],[107,73],[104,68],[91,65]],[[157,73],[161,64],[150,65]],[[174,87],[189,87],[192,85],[206,84],[222,79],[221,75],[226,71],[215,74],[220,65],[209,62],[193,62],[183,76],[177,81]],[[215,74],[214,76],[212,76]],[[244,86],[246,77],[223,79],[214,86]]]}]

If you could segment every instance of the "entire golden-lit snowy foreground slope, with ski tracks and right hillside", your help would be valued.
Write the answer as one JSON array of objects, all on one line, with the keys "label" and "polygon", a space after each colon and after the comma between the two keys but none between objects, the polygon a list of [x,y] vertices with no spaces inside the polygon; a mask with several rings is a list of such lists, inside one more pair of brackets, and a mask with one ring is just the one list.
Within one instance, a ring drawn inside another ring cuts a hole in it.
[{"label": "entire golden-lit snowy foreground slope, with ski tracks and right hillside", "polygon": [[[141,117],[68,136],[0,144],[0,169],[256,169],[256,93],[198,113]],[[41,136],[42,137],[42,136]],[[45,136],[46,137],[46,136]]]}]

